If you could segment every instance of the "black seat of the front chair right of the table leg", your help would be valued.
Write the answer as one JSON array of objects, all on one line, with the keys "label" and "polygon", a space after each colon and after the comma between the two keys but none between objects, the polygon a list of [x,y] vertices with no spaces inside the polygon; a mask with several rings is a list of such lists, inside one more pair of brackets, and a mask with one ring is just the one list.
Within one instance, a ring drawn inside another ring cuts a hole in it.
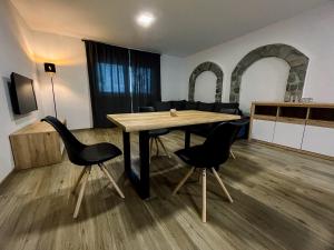
[{"label": "black seat of the front chair right of the table leg", "polygon": [[195,168],[212,168],[208,159],[204,156],[203,146],[194,146],[188,149],[180,149],[175,152],[183,161]]}]

